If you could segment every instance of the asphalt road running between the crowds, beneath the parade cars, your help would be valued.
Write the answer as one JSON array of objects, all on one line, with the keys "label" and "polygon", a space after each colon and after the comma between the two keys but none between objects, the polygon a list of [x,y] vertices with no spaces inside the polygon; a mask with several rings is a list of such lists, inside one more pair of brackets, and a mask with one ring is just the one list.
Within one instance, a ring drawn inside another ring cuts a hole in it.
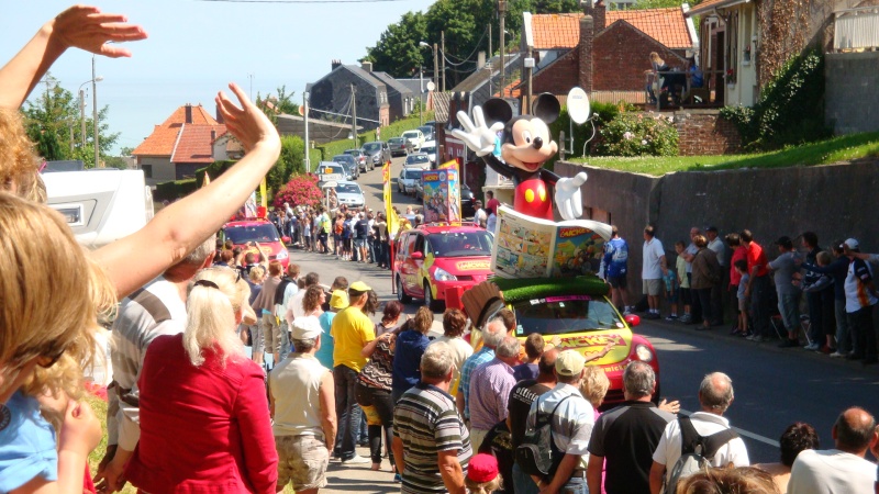
[{"label": "asphalt road running between the crowds, beneath the parade cars", "polygon": [[[399,175],[402,158],[394,158],[392,177]],[[382,209],[381,175],[370,171],[359,179],[368,191],[367,204]],[[404,210],[416,202],[393,192],[393,203]],[[361,280],[372,287],[381,301],[393,300],[390,271],[375,265],[335,260],[332,256],[291,251],[291,260],[302,271],[315,271],[322,282],[344,276],[349,282]],[[418,303],[407,304],[412,314]],[[439,315],[436,316],[438,322]],[[374,317],[378,321],[378,316]],[[438,323],[435,329],[439,329]],[[702,377],[723,371],[733,379],[735,401],[726,413],[739,429],[753,462],[778,461],[778,437],[793,422],[812,424],[821,437],[822,448],[832,447],[831,427],[839,412],[859,405],[879,413],[879,367],[830,359],[803,349],[779,349],[775,343],[755,344],[728,336],[725,328],[696,332],[694,326],[666,322],[644,322],[635,330],[656,347],[661,368],[663,395],[680,400],[686,411],[698,411],[698,389]],[[388,473],[369,472],[368,468],[340,469],[331,475],[345,486],[337,492],[396,492],[399,484],[388,483]],[[374,482],[375,481],[375,482]],[[352,482],[364,482],[359,487]],[[330,492],[338,489],[331,479]]]}]

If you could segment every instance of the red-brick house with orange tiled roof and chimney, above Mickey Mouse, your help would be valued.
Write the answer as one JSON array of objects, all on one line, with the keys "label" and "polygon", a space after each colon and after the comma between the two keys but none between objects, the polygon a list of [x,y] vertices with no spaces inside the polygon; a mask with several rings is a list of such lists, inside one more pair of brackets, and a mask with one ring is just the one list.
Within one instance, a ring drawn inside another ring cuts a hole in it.
[{"label": "red-brick house with orange tiled roof and chimney, above Mickey Mouse", "polygon": [[565,96],[579,86],[594,101],[643,103],[650,52],[683,69],[699,48],[692,20],[685,16],[688,10],[685,3],[607,11],[603,3],[585,2],[582,13],[526,12],[524,29],[531,30],[534,44],[533,93]]}]

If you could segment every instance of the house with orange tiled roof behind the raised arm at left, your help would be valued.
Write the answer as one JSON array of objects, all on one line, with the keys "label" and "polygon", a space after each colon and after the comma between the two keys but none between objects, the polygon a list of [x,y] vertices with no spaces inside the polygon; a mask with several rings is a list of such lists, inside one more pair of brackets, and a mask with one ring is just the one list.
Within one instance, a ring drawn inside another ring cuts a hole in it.
[{"label": "house with orange tiled roof behind the raised arm at left", "polygon": [[214,161],[213,145],[226,126],[202,105],[178,108],[133,151],[147,183],[192,178],[196,170]]}]

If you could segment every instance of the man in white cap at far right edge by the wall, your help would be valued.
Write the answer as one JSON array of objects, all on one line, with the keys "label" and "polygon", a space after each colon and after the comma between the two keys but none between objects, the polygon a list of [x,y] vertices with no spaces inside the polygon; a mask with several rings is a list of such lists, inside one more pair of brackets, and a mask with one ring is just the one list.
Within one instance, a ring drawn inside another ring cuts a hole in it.
[{"label": "man in white cap at far right edge by the wall", "polygon": [[854,238],[843,244],[843,252],[849,259],[845,277],[845,312],[852,330],[852,353],[846,359],[863,360],[868,364],[877,360],[872,308],[879,302],[879,294],[876,293],[870,265],[854,256],[859,251],[860,244]]}]

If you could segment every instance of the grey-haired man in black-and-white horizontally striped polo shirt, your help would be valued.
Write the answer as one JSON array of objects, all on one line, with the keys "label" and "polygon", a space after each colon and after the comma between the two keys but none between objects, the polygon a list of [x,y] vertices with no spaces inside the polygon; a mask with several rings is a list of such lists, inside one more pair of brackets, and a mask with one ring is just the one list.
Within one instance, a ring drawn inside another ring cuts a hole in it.
[{"label": "grey-haired man in black-and-white horizontally striped polo shirt", "polygon": [[421,357],[421,382],[403,393],[393,413],[393,461],[403,493],[465,494],[470,437],[448,394],[453,355],[436,343]]}]

